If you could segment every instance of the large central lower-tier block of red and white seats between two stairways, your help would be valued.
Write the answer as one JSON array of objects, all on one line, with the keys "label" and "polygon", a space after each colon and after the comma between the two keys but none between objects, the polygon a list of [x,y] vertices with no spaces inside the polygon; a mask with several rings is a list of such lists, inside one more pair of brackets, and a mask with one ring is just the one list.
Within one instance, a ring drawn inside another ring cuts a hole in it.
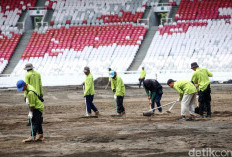
[{"label": "large central lower-tier block of red and white seats between two stairways", "polygon": [[127,70],[147,28],[143,25],[103,25],[41,28],[34,32],[12,75],[23,73],[27,62],[43,75],[82,73],[88,65],[94,73],[108,67]]}]

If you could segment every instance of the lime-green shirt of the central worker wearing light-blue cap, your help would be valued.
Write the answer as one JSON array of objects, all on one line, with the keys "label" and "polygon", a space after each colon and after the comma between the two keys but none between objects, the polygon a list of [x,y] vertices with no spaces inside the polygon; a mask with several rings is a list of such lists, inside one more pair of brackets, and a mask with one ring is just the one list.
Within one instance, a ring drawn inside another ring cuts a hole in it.
[{"label": "lime-green shirt of the central worker wearing light-blue cap", "polygon": [[125,85],[118,75],[115,77],[115,79],[112,79],[111,81],[111,89],[116,90],[115,96],[124,96],[125,95]]}]

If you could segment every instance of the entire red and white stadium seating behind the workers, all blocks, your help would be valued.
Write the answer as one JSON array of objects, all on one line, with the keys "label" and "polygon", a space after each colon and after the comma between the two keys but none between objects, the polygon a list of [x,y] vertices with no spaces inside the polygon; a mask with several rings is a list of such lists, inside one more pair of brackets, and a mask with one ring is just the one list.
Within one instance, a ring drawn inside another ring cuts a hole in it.
[{"label": "entire red and white stadium seating behind the workers, all blocks", "polygon": [[[36,0],[3,2],[0,40],[16,43],[16,36],[22,32],[15,23],[22,10],[34,6]],[[167,5],[175,6],[170,9],[173,15],[168,14],[175,22],[158,27],[144,60],[139,60],[139,69],[145,66],[147,78],[158,74],[159,82],[164,83],[168,77],[189,79],[190,63],[197,61],[209,68],[215,79],[231,79],[231,0],[46,0],[44,8],[52,15],[50,26],[34,30],[11,73],[12,79],[23,76],[23,67],[30,62],[46,78],[46,85],[80,84],[84,66],[90,66],[96,77],[107,76],[107,68],[111,67],[122,72],[120,76],[126,83],[136,83],[138,73],[127,70],[148,29],[138,21],[150,16],[153,7],[162,9]],[[5,66],[9,55],[2,45],[0,65]],[[69,82],[64,81],[67,79]]]}]

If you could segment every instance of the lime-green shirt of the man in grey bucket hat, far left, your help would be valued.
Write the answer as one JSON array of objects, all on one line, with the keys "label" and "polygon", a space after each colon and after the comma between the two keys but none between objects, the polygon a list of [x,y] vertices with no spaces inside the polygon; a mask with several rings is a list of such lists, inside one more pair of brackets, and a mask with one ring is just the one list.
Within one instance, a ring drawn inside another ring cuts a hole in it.
[{"label": "lime-green shirt of the man in grey bucket hat, far left", "polygon": [[[25,82],[26,84],[29,84],[32,87],[34,87],[38,95],[43,94],[42,81],[41,81],[41,76],[39,72],[34,71],[34,70],[28,71],[25,76]],[[24,92],[24,97],[26,96],[27,96],[26,92]]]}]

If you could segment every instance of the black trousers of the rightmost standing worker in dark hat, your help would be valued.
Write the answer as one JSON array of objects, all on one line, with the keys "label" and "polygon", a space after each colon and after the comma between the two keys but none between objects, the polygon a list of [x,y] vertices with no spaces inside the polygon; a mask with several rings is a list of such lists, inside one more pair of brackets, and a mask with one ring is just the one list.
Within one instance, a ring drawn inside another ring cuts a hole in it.
[{"label": "black trousers of the rightmost standing worker in dark hat", "polygon": [[204,91],[199,91],[199,114],[203,115],[206,110],[207,115],[211,115],[211,88],[210,85]]}]

